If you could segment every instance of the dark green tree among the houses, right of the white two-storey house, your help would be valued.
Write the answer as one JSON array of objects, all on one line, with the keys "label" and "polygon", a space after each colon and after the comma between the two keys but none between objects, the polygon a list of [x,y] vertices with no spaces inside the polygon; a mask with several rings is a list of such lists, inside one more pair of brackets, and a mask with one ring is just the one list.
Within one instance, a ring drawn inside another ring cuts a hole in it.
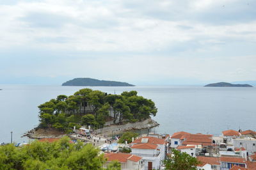
[{"label": "dark green tree among the houses, right of the white two-storey house", "polygon": [[196,166],[200,163],[195,157],[191,157],[188,153],[172,150],[172,157],[164,160],[166,169],[179,170],[196,170]]}]

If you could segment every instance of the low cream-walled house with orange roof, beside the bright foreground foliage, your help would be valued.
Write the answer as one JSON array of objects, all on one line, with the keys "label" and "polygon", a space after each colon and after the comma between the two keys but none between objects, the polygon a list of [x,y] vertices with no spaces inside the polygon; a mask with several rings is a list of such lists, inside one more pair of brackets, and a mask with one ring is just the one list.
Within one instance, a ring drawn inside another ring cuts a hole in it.
[{"label": "low cream-walled house with orange roof, beside the bright foreground foliage", "polygon": [[144,169],[144,162],[141,161],[142,157],[138,157],[136,155],[132,155],[129,153],[106,153],[104,157],[107,158],[107,162],[104,165],[108,166],[109,162],[116,160],[120,162],[122,169],[134,169],[134,170],[142,170]]}]

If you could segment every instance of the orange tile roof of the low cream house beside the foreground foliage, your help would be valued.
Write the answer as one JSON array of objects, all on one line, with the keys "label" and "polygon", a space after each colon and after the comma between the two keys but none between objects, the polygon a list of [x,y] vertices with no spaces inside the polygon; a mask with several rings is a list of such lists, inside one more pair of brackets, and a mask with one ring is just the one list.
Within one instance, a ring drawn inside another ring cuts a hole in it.
[{"label": "orange tile roof of the low cream house beside the foreground foliage", "polygon": [[117,160],[118,162],[127,162],[127,160],[138,162],[141,160],[141,157],[129,153],[106,153],[104,157],[106,157],[108,161]]}]

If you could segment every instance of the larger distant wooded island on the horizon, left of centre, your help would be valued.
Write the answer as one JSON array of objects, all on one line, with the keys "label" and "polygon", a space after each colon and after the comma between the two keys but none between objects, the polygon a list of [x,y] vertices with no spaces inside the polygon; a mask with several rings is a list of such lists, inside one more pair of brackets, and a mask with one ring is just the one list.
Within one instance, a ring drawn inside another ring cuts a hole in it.
[{"label": "larger distant wooded island on the horizon, left of centre", "polygon": [[127,82],[118,81],[100,81],[91,78],[76,78],[71,81],[64,82],[62,86],[134,86]]}]

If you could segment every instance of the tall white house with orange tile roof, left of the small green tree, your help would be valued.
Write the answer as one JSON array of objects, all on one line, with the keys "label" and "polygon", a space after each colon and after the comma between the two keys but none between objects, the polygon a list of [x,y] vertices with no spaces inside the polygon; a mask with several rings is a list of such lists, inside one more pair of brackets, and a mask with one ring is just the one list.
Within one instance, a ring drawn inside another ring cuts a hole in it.
[{"label": "tall white house with orange tile roof, left of the small green tree", "polygon": [[145,169],[159,169],[164,158],[168,143],[157,137],[141,137],[131,143],[131,154],[142,157]]}]

